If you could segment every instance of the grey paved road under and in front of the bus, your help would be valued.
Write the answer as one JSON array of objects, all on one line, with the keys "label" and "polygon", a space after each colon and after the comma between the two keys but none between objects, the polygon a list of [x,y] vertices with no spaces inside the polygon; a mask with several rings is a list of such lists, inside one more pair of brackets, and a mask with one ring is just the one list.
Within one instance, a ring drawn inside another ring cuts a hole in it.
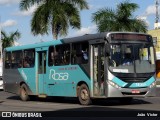
[{"label": "grey paved road under and in front of the bus", "polygon": [[116,100],[98,100],[90,106],[79,105],[75,98],[36,99],[23,102],[18,96],[0,91],[0,111],[160,111],[160,88],[152,98],[135,98],[130,105]]}]

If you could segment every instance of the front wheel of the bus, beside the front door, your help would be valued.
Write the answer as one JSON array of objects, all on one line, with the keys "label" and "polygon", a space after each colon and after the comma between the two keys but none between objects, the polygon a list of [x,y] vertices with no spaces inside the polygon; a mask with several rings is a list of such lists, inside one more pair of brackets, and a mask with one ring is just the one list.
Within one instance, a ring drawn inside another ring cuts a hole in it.
[{"label": "front wheel of the bus, beside the front door", "polygon": [[90,92],[86,84],[82,84],[78,91],[78,100],[81,105],[91,104]]}]

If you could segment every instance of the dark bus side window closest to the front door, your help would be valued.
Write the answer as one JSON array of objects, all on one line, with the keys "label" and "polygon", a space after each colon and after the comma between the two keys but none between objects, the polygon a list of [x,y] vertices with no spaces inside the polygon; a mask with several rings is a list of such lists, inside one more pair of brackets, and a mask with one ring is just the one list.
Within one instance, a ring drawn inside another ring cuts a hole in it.
[{"label": "dark bus side window closest to the front door", "polygon": [[73,43],[72,54],[71,54],[72,64],[87,64],[88,52],[89,52],[88,42]]}]

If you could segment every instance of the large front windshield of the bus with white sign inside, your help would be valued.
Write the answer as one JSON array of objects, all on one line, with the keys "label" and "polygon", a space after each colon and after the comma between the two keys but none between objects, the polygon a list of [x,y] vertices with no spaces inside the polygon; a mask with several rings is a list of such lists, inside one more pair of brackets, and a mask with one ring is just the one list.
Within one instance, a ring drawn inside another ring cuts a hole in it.
[{"label": "large front windshield of the bus with white sign inside", "polygon": [[111,44],[109,69],[116,73],[152,73],[154,48],[148,43]]}]

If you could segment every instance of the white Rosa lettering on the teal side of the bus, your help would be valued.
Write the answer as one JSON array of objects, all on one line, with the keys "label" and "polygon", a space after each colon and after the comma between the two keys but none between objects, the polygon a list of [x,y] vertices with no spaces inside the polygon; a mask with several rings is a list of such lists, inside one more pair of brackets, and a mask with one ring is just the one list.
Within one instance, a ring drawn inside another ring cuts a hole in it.
[{"label": "white Rosa lettering on the teal side of the bus", "polygon": [[50,70],[49,79],[53,80],[68,80],[69,74],[67,72],[58,73],[54,69]]}]

